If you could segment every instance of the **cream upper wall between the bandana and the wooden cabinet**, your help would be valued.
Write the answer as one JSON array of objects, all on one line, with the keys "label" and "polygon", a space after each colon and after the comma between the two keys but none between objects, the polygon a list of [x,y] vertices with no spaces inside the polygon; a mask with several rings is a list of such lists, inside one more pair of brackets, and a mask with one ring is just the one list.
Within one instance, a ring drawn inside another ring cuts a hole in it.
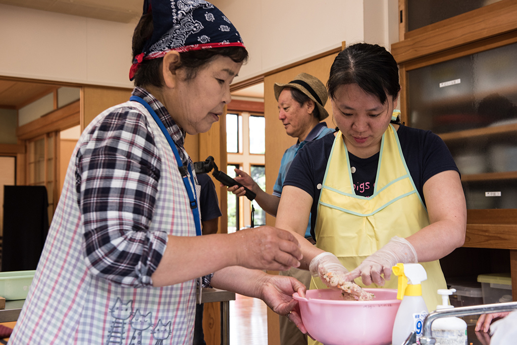
[{"label": "cream upper wall between the bandana and the wooden cabinet", "polygon": [[235,82],[347,44],[389,48],[398,40],[397,0],[212,0],[250,53]]}]

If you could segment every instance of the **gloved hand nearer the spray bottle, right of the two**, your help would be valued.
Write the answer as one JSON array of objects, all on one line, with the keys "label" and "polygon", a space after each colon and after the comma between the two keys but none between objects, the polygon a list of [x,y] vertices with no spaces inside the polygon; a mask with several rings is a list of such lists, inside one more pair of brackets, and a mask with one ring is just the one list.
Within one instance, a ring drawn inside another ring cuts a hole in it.
[{"label": "gloved hand nearer the spray bottle, right of the two", "polygon": [[[393,237],[377,252],[373,253],[345,278],[353,280],[361,277],[364,285],[373,283],[383,286],[391,277],[391,268],[397,263],[417,263],[418,257],[415,248],[406,239]],[[381,276],[384,275],[384,278]]]}]

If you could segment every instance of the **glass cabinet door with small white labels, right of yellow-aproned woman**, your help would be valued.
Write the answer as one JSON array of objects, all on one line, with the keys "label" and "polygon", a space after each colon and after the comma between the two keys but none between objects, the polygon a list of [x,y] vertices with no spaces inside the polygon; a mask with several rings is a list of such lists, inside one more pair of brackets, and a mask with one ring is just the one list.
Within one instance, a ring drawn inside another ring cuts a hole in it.
[{"label": "glass cabinet door with small white labels, right of yellow-aproned woman", "polygon": [[517,43],[408,71],[412,127],[444,139],[468,209],[517,208]]}]

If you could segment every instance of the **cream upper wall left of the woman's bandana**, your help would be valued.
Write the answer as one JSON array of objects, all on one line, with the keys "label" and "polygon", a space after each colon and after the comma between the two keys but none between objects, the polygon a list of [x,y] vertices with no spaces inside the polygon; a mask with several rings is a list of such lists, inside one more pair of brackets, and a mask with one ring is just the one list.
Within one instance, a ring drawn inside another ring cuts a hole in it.
[{"label": "cream upper wall left of the woman's bandana", "polygon": [[0,76],[132,87],[135,25],[0,4]]}]

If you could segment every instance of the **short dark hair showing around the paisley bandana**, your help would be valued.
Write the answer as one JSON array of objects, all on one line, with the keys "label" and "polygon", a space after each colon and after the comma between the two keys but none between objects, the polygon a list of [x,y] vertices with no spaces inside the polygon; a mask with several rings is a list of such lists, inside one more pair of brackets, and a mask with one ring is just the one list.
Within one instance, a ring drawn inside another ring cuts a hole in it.
[{"label": "short dark hair showing around the paisley bandana", "polygon": [[[152,35],[153,15],[143,14],[133,33],[133,60],[142,52],[145,43]],[[186,80],[191,80],[196,76],[197,71],[218,55],[227,56],[235,62],[246,62],[248,59],[248,51],[241,46],[188,51],[179,53],[180,65],[177,68],[185,68]],[[161,73],[162,62],[163,58],[142,61],[134,75],[134,85],[162,87],[164,85]]]}]

